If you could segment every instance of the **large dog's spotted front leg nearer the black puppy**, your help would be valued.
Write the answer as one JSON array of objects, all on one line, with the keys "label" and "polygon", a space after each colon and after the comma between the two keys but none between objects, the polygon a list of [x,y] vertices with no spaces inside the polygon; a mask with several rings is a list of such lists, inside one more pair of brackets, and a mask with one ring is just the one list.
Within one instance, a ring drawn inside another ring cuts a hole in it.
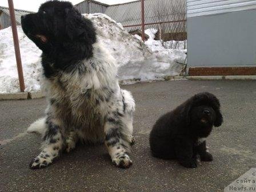
[{"label": "large dog's spotted front leg nearer the black puppy", "polygon": [[121,168],[128,168],[132,165],[132,161],[127,154],[130,151],[129,137],[122,132],[125,130],[125,122],[122,122],[122,114],[115,115],[115,117],[107,118],[105,123],[105,145],[109,150],[112,162]]}]

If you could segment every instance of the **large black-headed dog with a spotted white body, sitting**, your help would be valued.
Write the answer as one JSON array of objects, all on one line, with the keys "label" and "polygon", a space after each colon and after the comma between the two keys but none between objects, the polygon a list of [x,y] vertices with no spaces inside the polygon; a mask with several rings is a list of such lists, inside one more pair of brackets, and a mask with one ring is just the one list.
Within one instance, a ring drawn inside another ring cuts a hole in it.
[{"label": "large black-headed dog with a spotted white body, sitting", "polygon": [[41,153],[32,169],[48,166],[80,141],[105,142],[118,167],[129,167],[135,103],[120,89],[114,58],[97,40],[93,23],[70,2],[48,1],[21,18],[22,29],[42,50],[46,117],[29,127],[41,131]]}]

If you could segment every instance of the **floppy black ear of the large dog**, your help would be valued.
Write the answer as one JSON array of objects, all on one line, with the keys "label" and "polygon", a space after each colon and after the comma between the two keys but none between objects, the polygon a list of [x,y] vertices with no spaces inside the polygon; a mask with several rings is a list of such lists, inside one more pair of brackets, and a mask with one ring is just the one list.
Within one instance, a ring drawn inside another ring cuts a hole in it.
[{"label": "floppy black ear of the large dog", "polygon": [[85,39],[88,43],[96,42],[95,29],[89,19],[85,19],[75,8],[65,9],[66,33],[71,39]]}]

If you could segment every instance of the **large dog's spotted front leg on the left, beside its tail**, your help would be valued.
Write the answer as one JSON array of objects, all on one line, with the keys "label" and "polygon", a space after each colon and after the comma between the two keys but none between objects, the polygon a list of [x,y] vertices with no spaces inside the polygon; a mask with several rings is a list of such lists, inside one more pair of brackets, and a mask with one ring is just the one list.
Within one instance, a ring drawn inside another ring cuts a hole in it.
[{"label": "large dog's spotted front leg on the left, beside its tail", "polygon": [[48,166],[53,159],[58,157],[63,147],[63,135],[61,127],[56,119],[46,121],[47,130],[43,135],[43,144],[41,153],[32,159],[31,169],[40,169]]}]

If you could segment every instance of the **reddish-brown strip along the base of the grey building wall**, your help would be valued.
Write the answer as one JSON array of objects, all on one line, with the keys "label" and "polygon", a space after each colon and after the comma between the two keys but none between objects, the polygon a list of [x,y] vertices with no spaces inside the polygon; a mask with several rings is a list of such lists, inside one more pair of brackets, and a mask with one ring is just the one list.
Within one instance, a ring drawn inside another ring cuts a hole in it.
[{"label": "reddish-brown strip along the base of the grey building wall", "polygon": [[256,67],[191,67],[190,76],[256,75]]}]

